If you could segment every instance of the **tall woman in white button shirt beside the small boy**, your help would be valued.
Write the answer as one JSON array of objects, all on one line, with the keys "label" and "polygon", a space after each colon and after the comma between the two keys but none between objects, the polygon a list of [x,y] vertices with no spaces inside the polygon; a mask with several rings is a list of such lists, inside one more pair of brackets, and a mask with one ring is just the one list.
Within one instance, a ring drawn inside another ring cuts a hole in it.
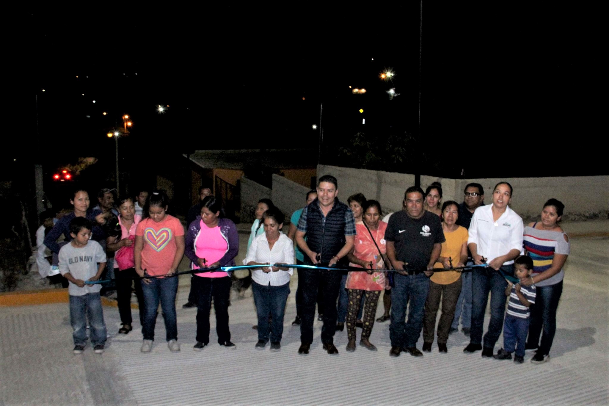
[{"label": "tall woman in white button shirt beside the small boy", "polygon": [[[467,240],[471,257],[474,264],[488,264],[488,268],[474,268],[471,274],[470,344],[463,352],[482,349],[482,357],[493,356],[493,348],[503,327],[507,281],[499,270],[513,276],[514,259],[524,252],[523,219],[510,209],[511,200],[512,185],[499,182],[493,189],[493,204],[480,206],[471,217]],[[488,293],[491,295],[491,317],[482,342]]]}]

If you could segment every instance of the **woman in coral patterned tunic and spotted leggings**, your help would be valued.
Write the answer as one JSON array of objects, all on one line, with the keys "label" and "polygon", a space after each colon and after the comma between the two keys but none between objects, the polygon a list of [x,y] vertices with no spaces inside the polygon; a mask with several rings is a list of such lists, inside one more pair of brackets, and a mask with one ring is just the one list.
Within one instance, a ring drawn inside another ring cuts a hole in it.
[{"label": "woman in coral patterned tunic and spotted leggings", "polygon": [[[364,219],[356,224],[356,236],[353,251],[347,254],[350,266],[368,268],[368,271],[352,271],[347,276],[347,292],[349,305],[347,308],[347,335],[349,343],[347,351],[355,351],[355,320],[359,310],[362,295],[365,295],[362,338],[359,345],[371,351],[376,347],[368,340],[372,327],[375,324],[376,304],[381,292],[387,285],[384,272],[375,272],[374,269],[384,269],[385,229],[387,223],[380,220],[381,205],[376,200],[368,200],[364,204]],[[376,244],[375,244],[376,242]],[[378,248],[377,248],[378,246]],[[379,249],[381,254],[379,254]]]}]

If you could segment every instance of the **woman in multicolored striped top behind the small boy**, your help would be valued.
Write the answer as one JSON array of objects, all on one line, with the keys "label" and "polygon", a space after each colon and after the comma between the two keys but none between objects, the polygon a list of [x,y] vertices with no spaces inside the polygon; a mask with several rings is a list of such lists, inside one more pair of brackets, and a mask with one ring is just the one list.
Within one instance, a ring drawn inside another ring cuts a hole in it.
[{"label": "woman in multicolored striped top behind the small boy", "polygon": [[[565,205],[552,198],[541,211],[541,222],[524,228],[524,248],[533,259],[533,273],[521,279],[523,286],[537,287],[537,302],[531,306],[527,349],[537,349],[532,363],[549,360],[549,352],[556,332],[556,309],[563,292],[563,265],[569,256],[569,237],[558,225]],[[539,337],[541,330],[541,344]]]}]

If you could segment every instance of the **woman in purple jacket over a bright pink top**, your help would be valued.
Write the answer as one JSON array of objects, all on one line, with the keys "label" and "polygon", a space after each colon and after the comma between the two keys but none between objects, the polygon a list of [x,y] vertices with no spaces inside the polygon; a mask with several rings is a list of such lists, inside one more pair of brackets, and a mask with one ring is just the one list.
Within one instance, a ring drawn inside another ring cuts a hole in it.
[{"label": "woman in purple jacket over a bright pink top", "polygon": [[200,269],[192,279],[197,297],[197,343],[195,351],[209,344],[209,311],[211,298],[216,310],[218,343],[236,348],[230,341],[228,329],[228,299],[230,297],[231,272],[206,271],[206,268],[234,265],[239,252],[239,236],[234,223],[224,217],[222,203],[215,196],[207,196],[201,202],[201,215],[192,222],[186,233],[186,256],[192,261],[192,269]]}]

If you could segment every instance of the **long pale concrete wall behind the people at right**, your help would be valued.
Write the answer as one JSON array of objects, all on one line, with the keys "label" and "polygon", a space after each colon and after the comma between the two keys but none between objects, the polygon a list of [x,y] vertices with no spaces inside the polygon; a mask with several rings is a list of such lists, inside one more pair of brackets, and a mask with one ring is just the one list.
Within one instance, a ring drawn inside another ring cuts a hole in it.
[{"label": "long pale concrete wall behind the people at right", "polygon": [[[339,183],[339,198],[362,192],[366,198],[381,203],[383,212],[401,209],[404,191],[415,184],[414,175],[382,172],[368,169],[345,168],[329,165],[317,166],[317,177],[333,175]],[[514,189],[512,209],[523,219],[539,216],[543,203],[557,198],[565,203],[564,219],[593,219],[607,217],[609,213],[609,176],[544,177],[544,178],[484,178],[449,179],[421,175],[421,187],[438,181],[442,184],[443,201],[463,201],[463,189],[470,182],[482,184],[485,201],[490,203],[493,187],[499,181],[508,181]],[[273,200],[274,201],[274,200]]]}]

